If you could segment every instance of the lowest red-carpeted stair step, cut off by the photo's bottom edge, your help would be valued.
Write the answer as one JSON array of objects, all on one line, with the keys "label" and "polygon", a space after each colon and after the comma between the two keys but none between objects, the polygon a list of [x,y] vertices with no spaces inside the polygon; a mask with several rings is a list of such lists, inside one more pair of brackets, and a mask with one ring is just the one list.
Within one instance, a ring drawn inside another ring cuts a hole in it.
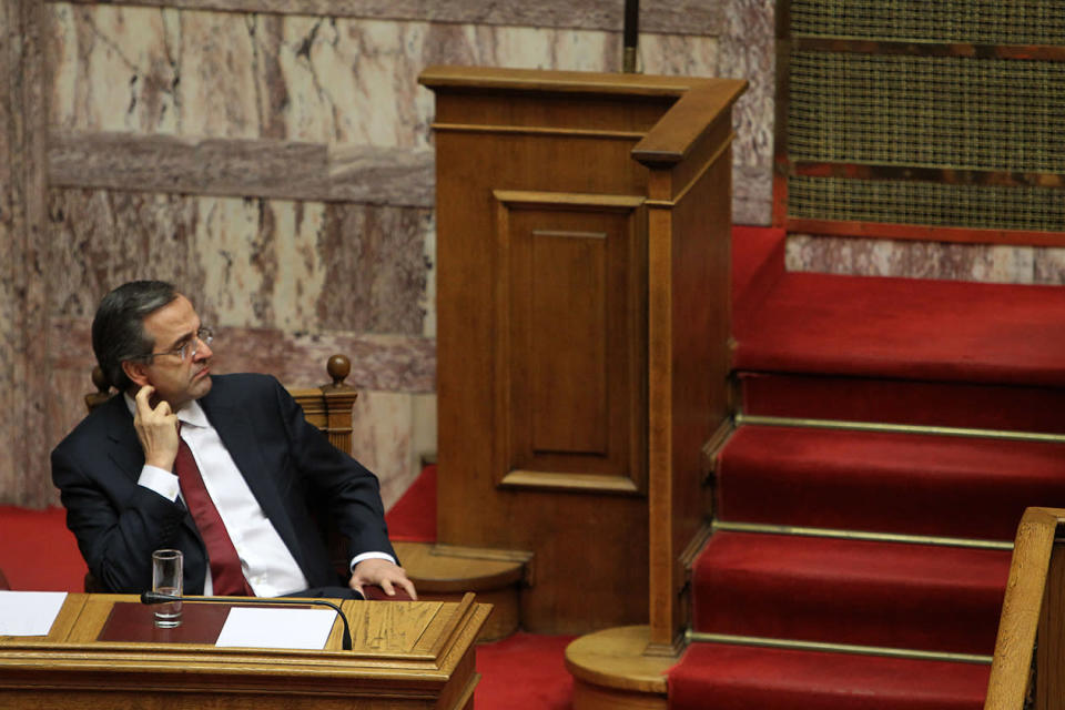
[{"label": "lowest red-carpeted stair step, cut off by the photo's bottom edge", "polygon": [[980,710],[990,666],[693,643],[670,710]]}]

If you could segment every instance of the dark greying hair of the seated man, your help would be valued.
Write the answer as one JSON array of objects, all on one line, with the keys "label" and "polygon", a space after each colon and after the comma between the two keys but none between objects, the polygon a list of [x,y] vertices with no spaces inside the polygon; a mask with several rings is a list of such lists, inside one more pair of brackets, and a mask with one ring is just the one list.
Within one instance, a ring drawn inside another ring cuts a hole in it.
[{"label": "dark greying hair of the seated man", "polygon": [[103,297],[92,320],[92,352],[108,382],[124,390],[132,381],[122,363],[149,355],[154,338],[144,331],[144,318],[180,294],[164,281],[131,281]]}]

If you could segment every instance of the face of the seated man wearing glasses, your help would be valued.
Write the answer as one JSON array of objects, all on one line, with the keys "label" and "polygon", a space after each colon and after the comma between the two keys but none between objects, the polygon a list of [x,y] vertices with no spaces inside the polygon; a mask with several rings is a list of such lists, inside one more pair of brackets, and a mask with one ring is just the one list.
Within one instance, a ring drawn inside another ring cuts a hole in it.
[{"label": "face of the seated man wearing glasses", "polygon": [[[200,316],[192,303],[182,295],[144,318],[144,331],[155,341],[149,363],[135,363],[126,371],[138,385],[155,387],[155,397],[170,403],[175,412],[193,399],[211,392],[211,347],[196,339],[200,329]],[[191,357],[181,356],[172,351],[189,343],[187,352],[195,348]]]}]

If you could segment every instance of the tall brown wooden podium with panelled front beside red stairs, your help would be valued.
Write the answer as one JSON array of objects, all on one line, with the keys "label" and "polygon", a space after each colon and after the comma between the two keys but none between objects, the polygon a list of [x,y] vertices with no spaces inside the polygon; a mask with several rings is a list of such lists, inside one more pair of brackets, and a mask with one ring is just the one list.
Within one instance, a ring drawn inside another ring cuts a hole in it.
[{"label": "tall brown wooden podium with panelled front beside red stairs", "polygon": [[[681,628],[729,414],[729,79],[433,67],[437,540],[521,626]],[[650,605],[649,605],[650,600]]]}]

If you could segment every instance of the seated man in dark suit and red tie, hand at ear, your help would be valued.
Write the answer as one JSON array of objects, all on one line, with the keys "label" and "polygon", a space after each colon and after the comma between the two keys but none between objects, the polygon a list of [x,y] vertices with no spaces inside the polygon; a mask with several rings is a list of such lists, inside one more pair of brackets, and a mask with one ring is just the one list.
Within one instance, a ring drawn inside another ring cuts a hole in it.
[{"label": "seated man in dark suit and red tie, hand at ear", "polygon": [[[337,450],[266,375],[211,375],[213,334],[163,282],[101,301],[92,346],[120,394],[52,452],[52,479],[90,571],[116,592],[151,589],[152,551],[184,554],[185,594],[415,597],[388,542],[377,478]],[[351,541],[329,564],[311,515]],[[346,587],[337,587],[346,582]]]}]

